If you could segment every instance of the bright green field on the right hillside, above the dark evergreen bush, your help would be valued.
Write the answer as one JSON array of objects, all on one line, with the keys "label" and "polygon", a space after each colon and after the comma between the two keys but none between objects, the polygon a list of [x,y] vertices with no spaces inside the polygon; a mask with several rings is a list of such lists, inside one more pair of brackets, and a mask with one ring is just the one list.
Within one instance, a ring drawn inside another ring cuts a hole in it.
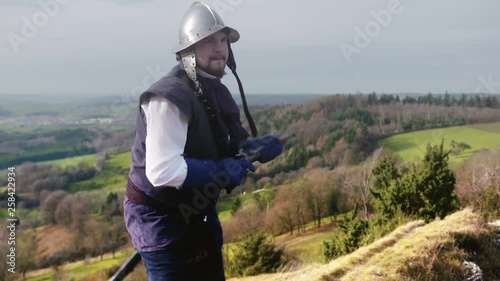
[{"label": "bright green field on the right hillside, above the dark evergreen bush", "polygon": [[445,149],[449,149],[452,140],[465,142],[471,146],[461,155],[450,154],[451,163],[460,163],[472,153],[482,149],[500,148],[500,123],[459,126],[432,129],[394,135],[381,140],[378,145],[396,152],[405,162],[422,159],[428,143],[437,145],[444,139]]}]

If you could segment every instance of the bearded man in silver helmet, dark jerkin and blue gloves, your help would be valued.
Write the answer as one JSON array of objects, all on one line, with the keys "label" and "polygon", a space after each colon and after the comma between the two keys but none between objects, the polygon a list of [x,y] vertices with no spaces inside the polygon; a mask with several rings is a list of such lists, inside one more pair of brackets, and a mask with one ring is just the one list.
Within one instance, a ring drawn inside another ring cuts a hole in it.
[{"label": "bearded man in silver helmet, dark jerkin and blue gloves", "polygon": [[149,280],[225,280],[215,205],[221,189],[255,170],[234,156],[258,147],[264,163],[283,150],[276,136],[247,139],[220,82],[226,63],[237,77],[230,43],[238,39],[214,10],[195,2],[174,48],[179,64],[140,97],[124,209]]}]

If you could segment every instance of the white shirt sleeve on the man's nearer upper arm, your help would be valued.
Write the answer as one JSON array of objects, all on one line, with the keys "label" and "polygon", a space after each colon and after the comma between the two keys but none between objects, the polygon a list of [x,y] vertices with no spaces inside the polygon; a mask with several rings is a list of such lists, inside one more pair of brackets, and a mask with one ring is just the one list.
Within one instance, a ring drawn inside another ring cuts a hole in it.
[{"label": "white shirt sleeve on the man's nearer upper arm", "polygon": [[141,105],[146,116],[146,177],[153,186],[182,185],[187,164],[182,154],[188,118],[169,100],[153,96]]}]

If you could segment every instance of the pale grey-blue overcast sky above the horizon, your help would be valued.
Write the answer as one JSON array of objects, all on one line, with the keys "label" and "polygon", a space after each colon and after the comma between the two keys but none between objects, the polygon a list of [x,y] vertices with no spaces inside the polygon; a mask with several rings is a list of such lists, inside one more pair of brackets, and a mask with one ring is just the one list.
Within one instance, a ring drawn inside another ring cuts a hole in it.
[{"label": "pale grey-blue overcast sky above the horizon", "polygon": [[[0,93],[138,95],[192,2],[0,0]],[[205,2],[241,35],[247,94],[500,93],[498,0]]]}]

